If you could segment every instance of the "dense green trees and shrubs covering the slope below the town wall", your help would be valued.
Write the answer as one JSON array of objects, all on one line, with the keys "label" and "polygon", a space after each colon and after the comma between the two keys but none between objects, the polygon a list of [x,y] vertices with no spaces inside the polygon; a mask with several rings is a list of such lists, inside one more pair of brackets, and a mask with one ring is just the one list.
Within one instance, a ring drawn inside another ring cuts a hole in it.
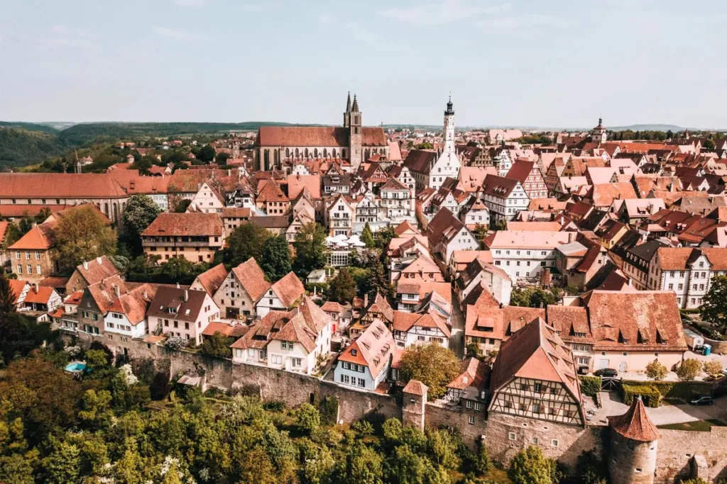
[{"label": "dense green trees and shrubs covering the slope below the town wall", "polygon": [[166,398],[168,375],[117,369],[98,348],[82,356],[93,371],[79,381],[63,372],[69,353],[36,351],[1,377],[0,482],[449,484],[490,469],[484,448],[450,430],[331,426],[334,398],[286,410],[178,385],[150,401]]}]

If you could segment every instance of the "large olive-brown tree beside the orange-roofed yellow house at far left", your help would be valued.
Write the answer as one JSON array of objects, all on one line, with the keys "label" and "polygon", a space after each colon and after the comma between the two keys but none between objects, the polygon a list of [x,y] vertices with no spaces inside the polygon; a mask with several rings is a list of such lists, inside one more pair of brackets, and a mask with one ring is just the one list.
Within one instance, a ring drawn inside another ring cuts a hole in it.
[{"label": "large olive-brown tree beside the orange-roofed yellow house at far left", "polygon": [[56,260],[63,267],[116,253],[116,231],[92,207],[69,210],[55,226],[55,239]]}]

